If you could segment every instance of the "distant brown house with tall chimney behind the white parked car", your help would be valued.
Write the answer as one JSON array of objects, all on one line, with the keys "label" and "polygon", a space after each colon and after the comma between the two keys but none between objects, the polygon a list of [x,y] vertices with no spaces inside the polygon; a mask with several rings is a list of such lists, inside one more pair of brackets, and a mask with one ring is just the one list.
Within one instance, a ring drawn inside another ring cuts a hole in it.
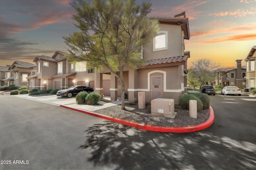
[{"label": "distant brown house with tall chimney behind the white parked car", "polygon": [[217,69],[217,77],[212,85],[237,86],[238,88],[246,88],[246,66],[241,66],[242,60],[236,60],[236,68],[220,68]]}]

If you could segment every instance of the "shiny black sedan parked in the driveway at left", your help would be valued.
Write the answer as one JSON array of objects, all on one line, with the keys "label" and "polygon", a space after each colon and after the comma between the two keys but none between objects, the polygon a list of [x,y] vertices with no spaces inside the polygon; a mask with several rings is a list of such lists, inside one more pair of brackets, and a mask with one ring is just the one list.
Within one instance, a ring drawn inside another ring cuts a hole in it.
[{"label": "shiny black sedan parked in the driveway at left", "polygon": [[64,96],[67,96],[68,98],[71,98],[73,95],[76,95],[78,94],[79,92],[93,92],[93,88],[91,87],[88,87],[88,86],[71,86],[67,89],[63,89],[63,90],[59,90],[57,92],[57,96],[61,96],[61,97],[64,97]]}]

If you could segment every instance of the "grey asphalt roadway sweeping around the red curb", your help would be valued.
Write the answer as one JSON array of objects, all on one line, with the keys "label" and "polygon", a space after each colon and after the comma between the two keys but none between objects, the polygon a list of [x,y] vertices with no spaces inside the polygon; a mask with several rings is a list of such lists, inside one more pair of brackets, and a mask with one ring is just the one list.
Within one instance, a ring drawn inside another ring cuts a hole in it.
[{"label": "grey asphalt roadway sweeping around the red curb", "polygon": [[[0,96],[0,169],[254,170],[256,101],[210,96],[215,120],[193,133],[157,133]],[[14,105],[15,104],[15,105]]]}]

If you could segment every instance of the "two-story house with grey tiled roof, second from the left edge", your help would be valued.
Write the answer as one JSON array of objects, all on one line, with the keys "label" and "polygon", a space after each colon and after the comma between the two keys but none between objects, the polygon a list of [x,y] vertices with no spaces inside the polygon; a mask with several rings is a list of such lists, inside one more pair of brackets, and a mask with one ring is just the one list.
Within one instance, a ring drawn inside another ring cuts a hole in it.
[{"label": "two-story house with grey tiled roof, second from the left edge", "polygon": [[30,82],[27,77],[30,76],[34,68],[36,68],[35,64],[23,61],[14,61],[8,68],[8,70],[10,70],[10,74],[13,73],[13,84],[18,88],[22,86],[30,86]]}]

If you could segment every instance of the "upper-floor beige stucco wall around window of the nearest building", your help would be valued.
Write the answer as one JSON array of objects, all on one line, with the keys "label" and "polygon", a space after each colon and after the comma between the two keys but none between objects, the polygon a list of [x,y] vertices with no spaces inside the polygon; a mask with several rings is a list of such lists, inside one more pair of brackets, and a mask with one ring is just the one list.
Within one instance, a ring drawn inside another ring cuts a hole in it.
[{"label": "upper-floor beige stucco wall around window of the nearest building", "polygon": [[182,56],[182,30],[180,25],[159,24],[160,31],[168,31],[168,49],[153,52],[153,39],[144,46],[144,60],[161,59],[167,57]]}]

